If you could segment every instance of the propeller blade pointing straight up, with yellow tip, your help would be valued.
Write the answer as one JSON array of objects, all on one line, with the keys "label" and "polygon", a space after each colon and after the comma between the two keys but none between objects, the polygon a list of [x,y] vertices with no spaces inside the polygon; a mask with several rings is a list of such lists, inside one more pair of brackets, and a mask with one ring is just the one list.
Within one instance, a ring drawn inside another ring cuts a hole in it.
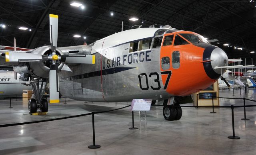
[{"label": "propeller blade pointing straight up, with yellow tip", "polygon": [[57,41],[58,41],[58,15],[50,14],[49,16],[50,16],[50,42],[52,47],[56,48]]}]

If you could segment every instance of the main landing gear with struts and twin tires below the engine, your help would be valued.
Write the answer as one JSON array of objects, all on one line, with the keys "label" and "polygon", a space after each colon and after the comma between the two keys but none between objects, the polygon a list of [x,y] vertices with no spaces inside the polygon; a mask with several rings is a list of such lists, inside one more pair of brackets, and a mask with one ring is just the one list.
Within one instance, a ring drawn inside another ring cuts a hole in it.
[{"label": "main landing gear with struts and twin tires below the engine", "polygon": [[[29,114],[37,112],[39,110],[40,112],[48,112],[48,102],[46,98],[42,98],[44,95],[44,90],[46,88],[48,81],[42,82],[41,86],[39,87],[39,81],[31,81],[30,84],[32,85],[33,92],[35,98],[31,98],[28,101],[28,112]],[[43,88],[44,85],[44,88]]]}]

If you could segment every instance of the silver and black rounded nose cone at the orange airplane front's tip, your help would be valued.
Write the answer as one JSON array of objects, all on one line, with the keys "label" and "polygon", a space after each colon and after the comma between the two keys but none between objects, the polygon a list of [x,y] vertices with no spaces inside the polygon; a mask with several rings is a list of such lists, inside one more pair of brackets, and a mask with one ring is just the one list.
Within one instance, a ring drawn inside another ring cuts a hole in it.
[{"label": "silver and black rounded nose cone at the orange airplane front's tip", "polygon": [[[228,56],[226,53],[216,47],[216,46],[208,46],[204,49],[203,61],[204,62],[204,70],[208,77],[212,79],[218,79],[225,69],[214,69],[215,67],[227,66]],[[222,72],[222,73],[221,73]]]}]

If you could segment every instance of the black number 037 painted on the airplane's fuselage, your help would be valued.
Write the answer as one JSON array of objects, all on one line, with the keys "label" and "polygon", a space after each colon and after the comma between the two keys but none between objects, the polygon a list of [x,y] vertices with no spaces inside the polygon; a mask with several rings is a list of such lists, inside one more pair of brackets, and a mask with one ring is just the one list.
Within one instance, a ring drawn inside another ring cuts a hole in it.
[{"label": "black number 037 painted on the airplane's fuselage", "polygon": [[[161,72],[161,75],[163,75],[163,74],[168,74],[168,77],[167,77],[166,82],[164,84],[164,89],[166,89],[167,86],[168,86],[170,77],[172,75],[172,71],[163,71],[163,72]],[[141,84],[141,78],[142,77],[145,77],[145,79],[146,79],[146,87],[144,87],[144,88],[142,87],[142,84]],[[157,87],[150,86],[150,88],[153,89],[153,90],[159,90],[161,88],[161,85],[160,85],[158,73],[152,72],[152,73],[149,74],[149,77],[150,78],[154,78],[154,82],[156,82],[158,84]],[[149,89],[149,86],[148,86],[148,75],[146,73],[141,73],[140,75],[138,75],[138,78],[139,78],[139,81],[140,81],[140,89],[141,90],[148,90]]]}]

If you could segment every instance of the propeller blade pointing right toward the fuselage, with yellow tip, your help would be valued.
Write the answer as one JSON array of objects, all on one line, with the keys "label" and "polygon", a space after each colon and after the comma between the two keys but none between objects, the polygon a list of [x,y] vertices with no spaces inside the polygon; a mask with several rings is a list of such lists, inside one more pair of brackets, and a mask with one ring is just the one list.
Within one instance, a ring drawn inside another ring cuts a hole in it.
[{"label": "propeller blade pointing right toward the fuselage, with yellow tip", "polygon": [[61,62],[95,64],[95,55],[61,55]]}]

